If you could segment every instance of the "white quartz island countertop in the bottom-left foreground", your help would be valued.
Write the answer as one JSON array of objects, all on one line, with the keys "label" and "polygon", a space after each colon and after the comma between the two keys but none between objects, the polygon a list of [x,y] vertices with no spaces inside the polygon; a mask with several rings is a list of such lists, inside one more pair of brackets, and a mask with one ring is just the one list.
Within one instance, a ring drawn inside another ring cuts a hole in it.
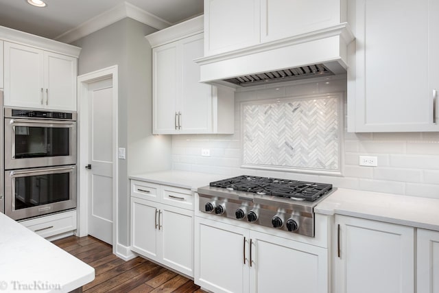
[{"label": "white quartz island countertop in the bottom-left foreground", "polygon": [[70,292],[95,269],[0,213],[0,292]]}]

